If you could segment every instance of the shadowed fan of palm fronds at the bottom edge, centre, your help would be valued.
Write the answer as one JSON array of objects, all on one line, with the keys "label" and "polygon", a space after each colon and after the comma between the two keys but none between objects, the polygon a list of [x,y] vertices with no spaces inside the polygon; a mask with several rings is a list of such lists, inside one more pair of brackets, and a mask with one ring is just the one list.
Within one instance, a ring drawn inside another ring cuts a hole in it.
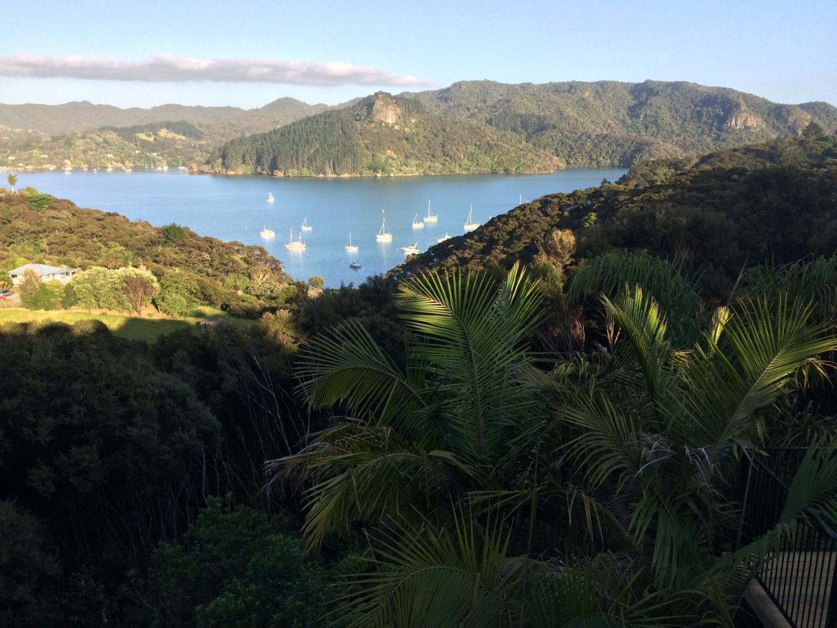
[{"label": "shadowed fan of palm fronds at the bottom edge, centre", "polygon": [[370,539],[372,568],[347,584],[334,613],[352,626],[508,625],[506,605],[523,564],[506,555],[508,538],[454,509],[450,527],[401,519]]}]

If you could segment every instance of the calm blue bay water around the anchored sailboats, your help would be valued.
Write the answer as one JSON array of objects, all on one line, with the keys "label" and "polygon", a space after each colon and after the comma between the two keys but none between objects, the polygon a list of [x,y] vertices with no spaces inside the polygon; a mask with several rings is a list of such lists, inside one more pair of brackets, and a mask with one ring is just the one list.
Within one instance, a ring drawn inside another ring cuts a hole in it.
[{"label": "calm blue bay water around the anchored sailboats", "polygon": [[[82,207],[114,211],[154,225],[183,224],[201,235],[264,245],[278,257],[295,279],[322,275],[326,286],[341,281],[359,283],[367,275],[382,273],[403,259],[399,247],[418,244],[426,250],[447,232],[460,235],[474,206],[474,221],[485,224],[524,201],[547,193],[570,192],[613,181],[624,170],[578,169],[533,175],[470,175],[452,177],[275,179],[267,177],[213,177],[183,172],[22,172],[21,186],[33,186]],[[267,203],[272,192],[275,203]],[[427,213],[428,199],[439,222],[413,229]],[[386,209],[387,230],[393,241],[382,244],[375,234]],[[308,219],[313,229],[303,233],[307,249],[285,250],[290,229],[294,237]],[[259,237],[264,227],[275,239]],[[349,232],[357,253],[347,253]],[[349,268],[357,260],[360,270]]]}]

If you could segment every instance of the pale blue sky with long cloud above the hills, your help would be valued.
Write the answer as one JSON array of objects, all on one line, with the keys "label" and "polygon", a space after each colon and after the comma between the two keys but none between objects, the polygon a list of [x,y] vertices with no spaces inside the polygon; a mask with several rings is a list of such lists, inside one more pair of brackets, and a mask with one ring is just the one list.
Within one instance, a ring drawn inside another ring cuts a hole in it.
[{"label": "pale blue sky with long cloud above the hills", "polygon": [[689,80],[837,105],[837,0],[3,3],[3,103],[331,105],[480,79]]}]

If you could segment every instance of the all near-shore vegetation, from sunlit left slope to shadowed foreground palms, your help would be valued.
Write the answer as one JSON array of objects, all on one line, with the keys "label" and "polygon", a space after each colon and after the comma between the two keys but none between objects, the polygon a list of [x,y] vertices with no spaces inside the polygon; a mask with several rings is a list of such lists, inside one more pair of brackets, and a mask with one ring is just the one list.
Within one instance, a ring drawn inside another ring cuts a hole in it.
[{"label": "all near-shore vegetation, from sunlit left slope to shadowed foreground palms", "polygon": [[[7,270],[260,317],[156,342],[0,325],[0,623],[747,625],[774,549],[837,524],[837,139],[807,128],[336,290],[4,194]],[[752,532],[742,470],[773,446],[804,455]]]}]

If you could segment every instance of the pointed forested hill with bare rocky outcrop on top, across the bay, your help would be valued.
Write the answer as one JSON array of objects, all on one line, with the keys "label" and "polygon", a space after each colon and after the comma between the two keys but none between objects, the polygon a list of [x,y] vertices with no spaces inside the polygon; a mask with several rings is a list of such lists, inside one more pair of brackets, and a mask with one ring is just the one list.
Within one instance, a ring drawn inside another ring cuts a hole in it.
[{"label": "pointed forested hill with bare rocky outcrop on top, across the bay", "polygon": [[551,172],[563,165],[514,133],[429,114],[416,100],[384,93],[237,138],[210,160],[214,172],[278,176]]}]

